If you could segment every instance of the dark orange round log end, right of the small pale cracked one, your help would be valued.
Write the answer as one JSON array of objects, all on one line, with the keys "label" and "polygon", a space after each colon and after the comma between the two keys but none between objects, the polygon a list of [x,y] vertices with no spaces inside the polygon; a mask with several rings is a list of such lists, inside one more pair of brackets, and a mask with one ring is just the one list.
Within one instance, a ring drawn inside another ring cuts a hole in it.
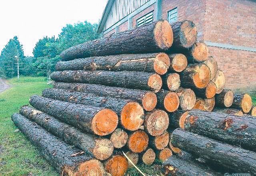
[{"label": "dark orange round log end, right of the small pale cracked one", "polygon": [[144,130],[128,133],[126,146],[134,153],[140,153],[148,147],[148,135]]}]

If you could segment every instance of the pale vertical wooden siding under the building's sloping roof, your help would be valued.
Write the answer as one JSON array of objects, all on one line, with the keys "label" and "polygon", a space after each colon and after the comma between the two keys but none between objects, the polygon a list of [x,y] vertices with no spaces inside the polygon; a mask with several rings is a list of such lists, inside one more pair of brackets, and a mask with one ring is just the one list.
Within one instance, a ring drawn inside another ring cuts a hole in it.
[{"label": "pale vertical wooden siding under the building's sloping roof", "polygon": [[107,30],[148,1],[150,0],[115,0],[104,24],[103,31]]}]

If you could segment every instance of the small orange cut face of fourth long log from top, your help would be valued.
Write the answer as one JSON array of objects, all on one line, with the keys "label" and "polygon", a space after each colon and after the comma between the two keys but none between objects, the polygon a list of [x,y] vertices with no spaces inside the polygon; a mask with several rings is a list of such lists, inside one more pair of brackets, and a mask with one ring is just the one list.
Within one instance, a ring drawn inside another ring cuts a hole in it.
[{"label": "small orange cut face of fourth long log from top", "polygon": [[142,98],[142,106],[146,111],[152,111],[157,104],[157,97],[154,92],[147,92]]}]

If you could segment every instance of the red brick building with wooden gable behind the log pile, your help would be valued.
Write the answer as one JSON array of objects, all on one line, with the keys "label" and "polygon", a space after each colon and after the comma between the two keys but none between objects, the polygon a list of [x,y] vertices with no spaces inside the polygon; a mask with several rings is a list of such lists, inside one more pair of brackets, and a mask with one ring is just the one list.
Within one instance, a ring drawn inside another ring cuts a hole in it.
[{"label": "red brick building with wooden gable behind the log pile", "polygon": [[108,0],[98,32],[109,36],[159,19],[192,20],[226,87],[256,90],[255,0]]}]

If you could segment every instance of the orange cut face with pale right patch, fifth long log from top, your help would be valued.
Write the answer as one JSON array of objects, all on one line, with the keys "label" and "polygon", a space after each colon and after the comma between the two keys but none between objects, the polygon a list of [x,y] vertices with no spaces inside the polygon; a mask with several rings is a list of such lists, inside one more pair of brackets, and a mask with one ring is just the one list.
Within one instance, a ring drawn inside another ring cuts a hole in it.
[{"label": "orange cut face with pale right patch, fifth long log from top", "polygon": [[120,121],[126,130],[138,130],[144,122],[144,110],[137,102],[129,102],[121,112]]}]

